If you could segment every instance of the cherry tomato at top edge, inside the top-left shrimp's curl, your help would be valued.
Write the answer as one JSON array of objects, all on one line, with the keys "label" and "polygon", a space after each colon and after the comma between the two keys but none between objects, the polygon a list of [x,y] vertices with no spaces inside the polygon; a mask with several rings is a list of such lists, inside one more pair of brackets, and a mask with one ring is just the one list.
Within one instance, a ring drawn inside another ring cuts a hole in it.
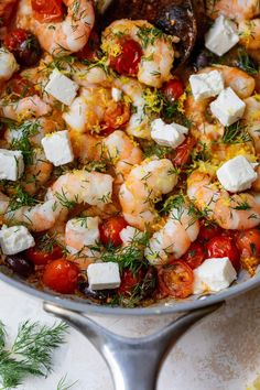
[{"label": "cherry tomato at top edge, inside the top-left shrimp's curl", "polygon": [[33,18],[41,23],[61,22],[63,20],[62,0],[31,0]]}]

